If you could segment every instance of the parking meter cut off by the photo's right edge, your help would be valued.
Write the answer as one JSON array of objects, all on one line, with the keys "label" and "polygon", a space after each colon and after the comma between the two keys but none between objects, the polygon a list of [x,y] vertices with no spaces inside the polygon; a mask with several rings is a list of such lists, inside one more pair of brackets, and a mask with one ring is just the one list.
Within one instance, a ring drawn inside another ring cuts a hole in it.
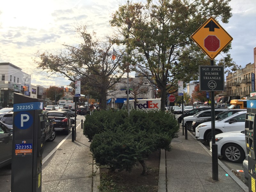
[{"label": "parking meter cut off by the photo's right edge", "polygon": [[256,100],[247,100],[247,113],[245,118],[245,145],[248,154],[248,187],[249,191],[255,191],[256,180]]}]

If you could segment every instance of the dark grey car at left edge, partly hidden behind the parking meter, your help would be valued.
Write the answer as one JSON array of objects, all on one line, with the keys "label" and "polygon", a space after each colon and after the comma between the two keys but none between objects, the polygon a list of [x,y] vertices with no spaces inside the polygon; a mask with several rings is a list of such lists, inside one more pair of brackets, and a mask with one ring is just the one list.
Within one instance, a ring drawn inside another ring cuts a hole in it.
[{"label": "dark grey car at left edge, partly hidden behind the parking meter", "polygon": [[12,163],[12,129],[0,122],[0,168]]}]

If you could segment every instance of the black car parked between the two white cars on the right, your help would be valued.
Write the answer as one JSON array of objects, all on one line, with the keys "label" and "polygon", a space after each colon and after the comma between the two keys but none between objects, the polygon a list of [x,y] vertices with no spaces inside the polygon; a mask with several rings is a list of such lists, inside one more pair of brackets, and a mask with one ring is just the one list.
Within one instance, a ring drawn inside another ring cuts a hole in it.
[{"label": "black car parked between the two white cars on the right", "polygon": [[[215,120],[222,120],[222,119],[225,119],[231,115],[234,115],[235,113],[239,112],[239,111],[246,111],[246,109],[229,109],[229,110],[225,110],[225,111],[222,111],[221,113],[217,114],[215,113]],[[192,123],[192,128],[193,128],[193,131],[196,130],[196,127],[201,124],[201,123],[204,123],[204,122],[207,122],[207,121],[212,121],[212,117],[208,117],[208,118],[203,118],[203,119],[198,119],[196,121],[193,121]]]}]

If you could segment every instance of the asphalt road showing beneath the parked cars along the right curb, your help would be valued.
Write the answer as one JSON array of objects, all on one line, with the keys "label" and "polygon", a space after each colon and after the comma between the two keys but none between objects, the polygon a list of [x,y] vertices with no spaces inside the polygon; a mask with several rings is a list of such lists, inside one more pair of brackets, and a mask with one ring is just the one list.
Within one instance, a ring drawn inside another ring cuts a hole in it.
[{"label": "asphalt road showing beneath the parked cars along the right curb", "polygon": [[[180,116],[180,115],[175,115],[176,116],[176,118],[178,117],[178,116]],[[182,126],[181,124],[180,124],[180,126]],[[196,135],[196,133],[195,132],[193,132],[193,131],[190,131],[194,136]],[[201,141],[201,143],[203,143],[204,144],[204,146],[206,147],[206,148],[208,148],[208,150],[210,150],[210,146],[209,146],[209,144],[207,143],[207,142],[205,142],[205,141]],[[227,167],[228,167],[228,169],[229,170],[233,170],[232,172],[240,179],[240,180],[242,180],[247,186],[248,186],[248,180],[246,180],[245,178],[244,178],[244,172],[238,172],[237,170],[243,170],[243,164],[242,163],[231,163],[231,162],[228,162],[228,161],[226,161],[225,159],[222,159],[221,157],[219,157],[219,159],[220,159],[220,161],[223,163],[223,164],[225,164]]]}]

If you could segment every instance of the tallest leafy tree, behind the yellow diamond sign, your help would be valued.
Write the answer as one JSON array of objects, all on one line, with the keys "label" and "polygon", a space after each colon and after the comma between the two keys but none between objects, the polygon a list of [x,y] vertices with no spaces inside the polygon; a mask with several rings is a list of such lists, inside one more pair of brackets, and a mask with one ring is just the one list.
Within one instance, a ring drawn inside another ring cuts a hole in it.
[{"label": "tallest leafy tree, behind the yellow diamond sign", "polygon": [[[148,0],[146,4],[122,5],[113,14],[110,24],[122,35],[116,44],[127,45],[128,63],[161,90],[162,110],[167,92],[173,88],[177,92],[178,80],[184,85],[197,80],[198,65],[210,64],[190,36],[210,16],[227,23],[229,1]],[[225,68],[237,67],[229,54],[220,63]]]}]

